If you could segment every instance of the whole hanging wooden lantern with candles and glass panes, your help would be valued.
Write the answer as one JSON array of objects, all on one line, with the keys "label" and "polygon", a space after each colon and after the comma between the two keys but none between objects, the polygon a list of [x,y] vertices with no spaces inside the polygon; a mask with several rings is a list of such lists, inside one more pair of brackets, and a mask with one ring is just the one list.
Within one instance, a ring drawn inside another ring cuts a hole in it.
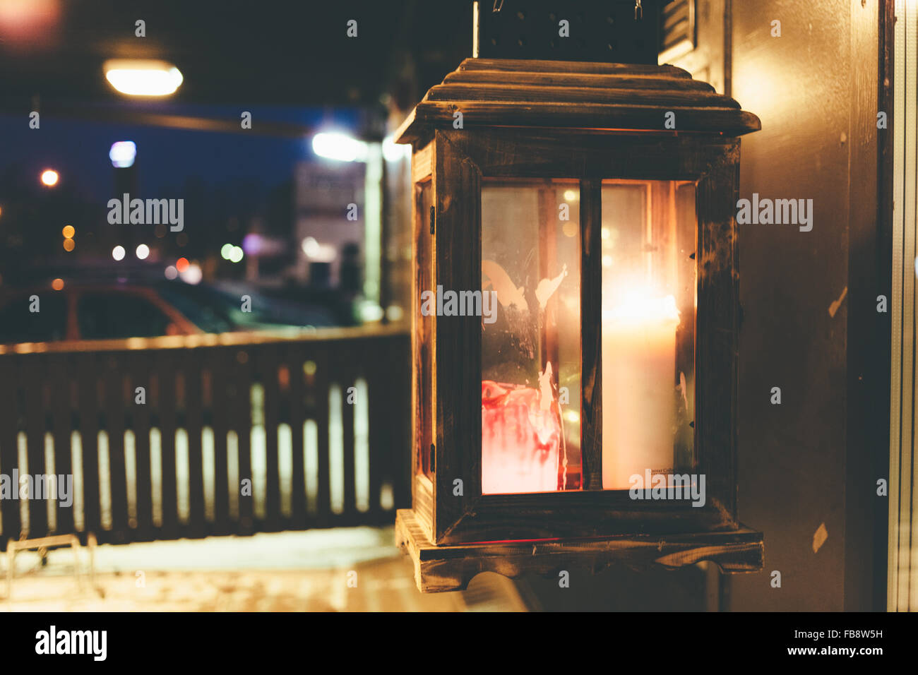
[{"label": "whole hanging wooden lantern with candles and glass panes", "polygon": [[762,568],[736,513],[738,137],[759,128],[674,66],[467,59],[398,130],[415,424],[396,528],[421,591]]}]

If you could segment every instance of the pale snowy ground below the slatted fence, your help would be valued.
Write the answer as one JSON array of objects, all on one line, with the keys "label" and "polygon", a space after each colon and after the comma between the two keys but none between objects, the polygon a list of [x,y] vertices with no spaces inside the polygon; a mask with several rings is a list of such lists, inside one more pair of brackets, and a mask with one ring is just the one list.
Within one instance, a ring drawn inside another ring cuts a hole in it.
[{"label": "pale snowy ground below the slatted fence", "polygon": [[77,579],[69,547],[51,550],[44,567],[36,552],[17,553],[7,598],[6,556],[0,556],[0,611],[525,611],[513,583],[490,573],[468,591],[421,594],[391,527],[98,546],[95,588],[88,551],[80,557]]}]

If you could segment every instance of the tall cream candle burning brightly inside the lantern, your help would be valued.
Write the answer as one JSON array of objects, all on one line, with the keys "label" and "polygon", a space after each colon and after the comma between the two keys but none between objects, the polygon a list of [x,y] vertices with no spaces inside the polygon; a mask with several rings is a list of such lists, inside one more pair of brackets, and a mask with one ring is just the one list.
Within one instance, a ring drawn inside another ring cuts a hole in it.
[{"label": "tall cream candle burning brightly inside the lantern", "polygon": [[602,312],[602,487],[672,473],[679,314],[672,296]]}]

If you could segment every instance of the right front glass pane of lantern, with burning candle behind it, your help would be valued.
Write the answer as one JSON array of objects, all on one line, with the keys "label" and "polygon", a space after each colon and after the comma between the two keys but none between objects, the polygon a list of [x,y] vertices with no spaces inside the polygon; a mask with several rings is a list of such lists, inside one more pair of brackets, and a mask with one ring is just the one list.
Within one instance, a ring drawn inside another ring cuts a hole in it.
[{"label": "right front glass pane of lantern, with burning candle behind it", "polygon": [[696,230],[693,183],[603,182],[604,489],[694,467]]}]

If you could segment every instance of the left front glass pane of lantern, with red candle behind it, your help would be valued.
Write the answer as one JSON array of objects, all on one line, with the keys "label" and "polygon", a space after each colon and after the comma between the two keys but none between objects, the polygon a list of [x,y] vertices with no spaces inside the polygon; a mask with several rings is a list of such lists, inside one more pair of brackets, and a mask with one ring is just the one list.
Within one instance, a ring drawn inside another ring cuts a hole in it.
[{"label": "left front glass pane of lantern, with red candle behind it", "polygon": [[574,181],[482,186],[485,494],[580,489],[579,198]]}]

